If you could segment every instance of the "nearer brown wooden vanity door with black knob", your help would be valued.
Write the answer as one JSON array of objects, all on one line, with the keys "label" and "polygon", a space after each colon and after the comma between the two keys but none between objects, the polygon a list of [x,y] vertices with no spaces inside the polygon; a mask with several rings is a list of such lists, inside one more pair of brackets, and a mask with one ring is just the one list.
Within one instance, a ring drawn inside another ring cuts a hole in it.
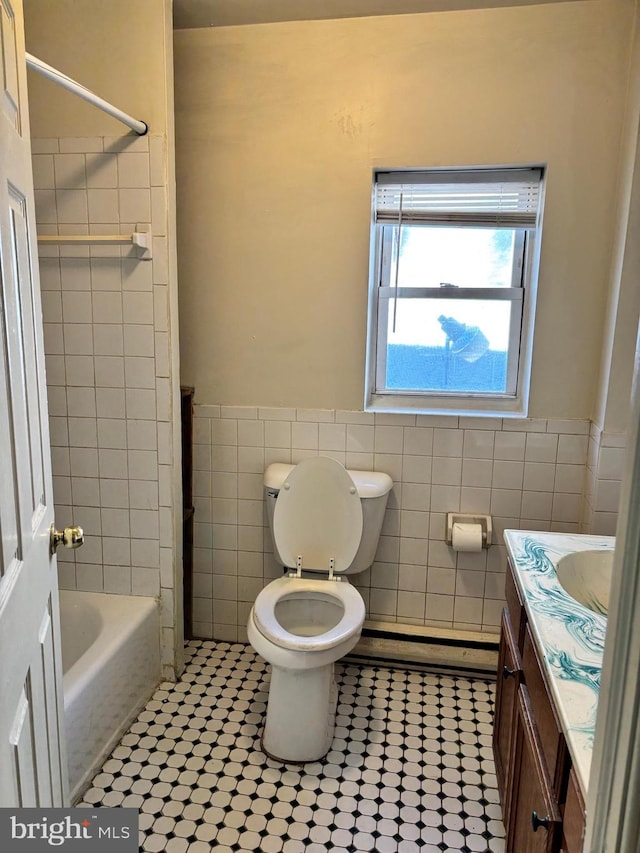
[{"label": "nearer brown wooden vanity door with black knob", "polygon": [[560,813],[531,715],[527,688],[516,702],[513,799],[507,831],[508,853],[555,853],[560,845]]}]

